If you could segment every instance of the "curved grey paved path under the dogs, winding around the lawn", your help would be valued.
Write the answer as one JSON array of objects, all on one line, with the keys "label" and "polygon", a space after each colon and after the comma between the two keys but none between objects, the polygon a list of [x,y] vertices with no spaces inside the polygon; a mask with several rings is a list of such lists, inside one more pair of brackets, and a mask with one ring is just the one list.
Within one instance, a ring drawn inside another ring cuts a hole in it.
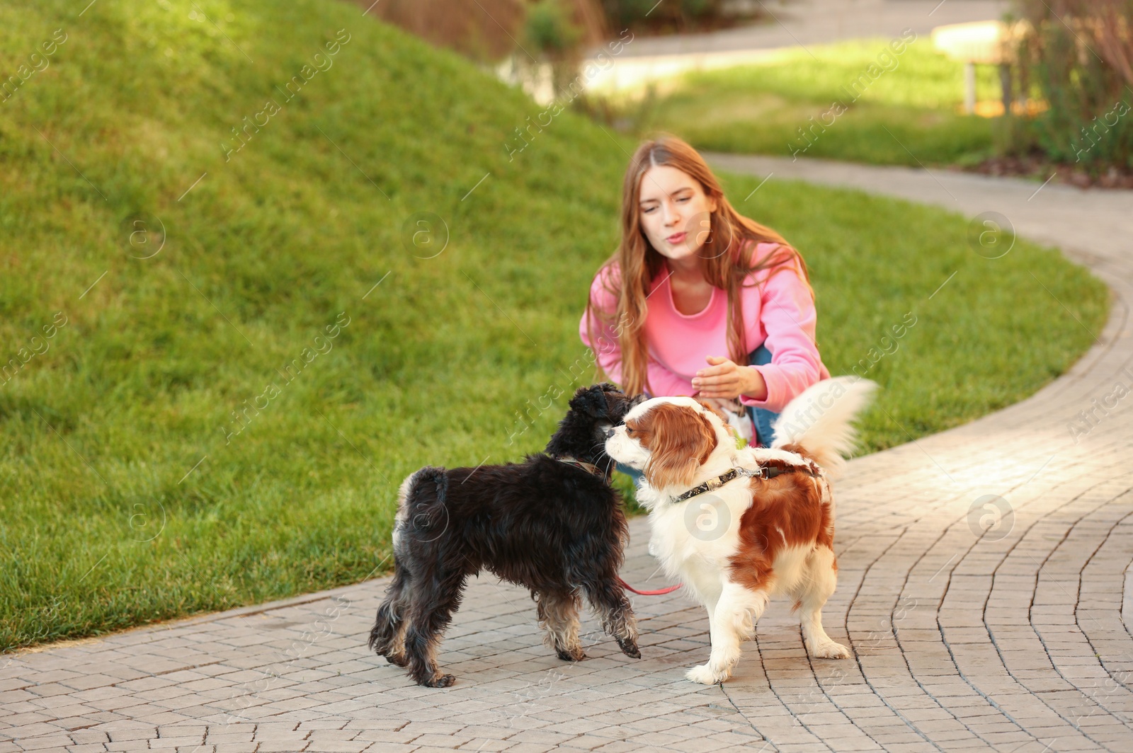
[{"label": "curved grey paved path under the dogs, winding around the lawn", "polygon": [[[1133,387],[1133,195],[710,159],[999,212],[1116,296],[1096,345],[1036,395],[849,464],[825,617],[853,659],[810,661],[775,604],[735,677],[693,685],[683,671],[707,654],[707,621],[676,592],[634,598],[644,659],[591,621],[591,659],[570,665],[540,644],[525,592],[482,577],[442,644],[457,685],[425,690],[366,651],[378,579],[10,657],[0,753],[1133,750],[1133,397],[1070,428]],[[659,585],[645,521],[631,528],[625,576]]]}]

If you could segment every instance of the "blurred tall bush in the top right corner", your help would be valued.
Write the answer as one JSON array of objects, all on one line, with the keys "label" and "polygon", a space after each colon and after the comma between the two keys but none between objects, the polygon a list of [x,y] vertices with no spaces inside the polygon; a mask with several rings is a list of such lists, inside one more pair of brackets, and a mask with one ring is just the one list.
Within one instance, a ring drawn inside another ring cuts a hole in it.
[{"label": "blurred tall bush in the top right corner", "polygon": [[1088,172],[1133,168],[1133,0],[1020,0],[1021,91],[1048,109],[1005,126],[1006,151]]}]

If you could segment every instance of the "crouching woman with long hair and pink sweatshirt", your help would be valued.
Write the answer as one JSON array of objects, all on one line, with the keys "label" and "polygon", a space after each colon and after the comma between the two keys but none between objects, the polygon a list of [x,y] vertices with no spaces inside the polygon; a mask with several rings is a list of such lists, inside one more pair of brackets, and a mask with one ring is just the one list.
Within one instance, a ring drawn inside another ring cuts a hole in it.
[{"label": "crouching woman with long hair and pink sweatshirt", "polygon": [[770,445],[778,412],[830,376],[815,323],[802,257],[732,208],[696,149],[672,136],[638,147],[622,186],[621,243],[579,326],[611,380],[629,394],[691,395],[747,413],[751,442]]}]

